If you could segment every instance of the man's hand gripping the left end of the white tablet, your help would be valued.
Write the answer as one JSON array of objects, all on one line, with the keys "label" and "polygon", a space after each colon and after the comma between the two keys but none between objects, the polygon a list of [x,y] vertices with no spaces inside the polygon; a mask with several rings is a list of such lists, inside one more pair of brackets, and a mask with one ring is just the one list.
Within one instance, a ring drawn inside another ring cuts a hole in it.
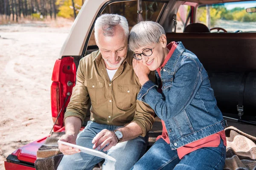
[{"label": "man's hand gripping the left end of the white tablet", "polygon": [[[71,144],[76,144],[76,136],[73,133],[65,134],[61,136],[61,139],[59,140],[68,142]],[[64,144],[60,144],[60,143],[58,143],[58,148],[64,155],[72,155],[72,154],[81,152],[79,149],[76,149]]]}]

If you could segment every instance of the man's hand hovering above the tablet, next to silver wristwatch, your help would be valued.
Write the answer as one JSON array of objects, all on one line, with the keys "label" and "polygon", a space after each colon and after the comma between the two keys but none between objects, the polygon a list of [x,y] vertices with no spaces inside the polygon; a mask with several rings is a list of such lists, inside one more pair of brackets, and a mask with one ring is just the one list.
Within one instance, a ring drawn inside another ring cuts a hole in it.
[{"label": "man's hand hovering above the tablet, next to silver wristwatch", "polygon": [[92,143],[93,149],[97,148],[101,150],[102,147],[108,146],[103,149],[103,151],[109,150],[112,146],[116,146],[118,139],[113,131],[109,131],[107,129],[103,129],[100,133],[98,133],[94,138]]}]

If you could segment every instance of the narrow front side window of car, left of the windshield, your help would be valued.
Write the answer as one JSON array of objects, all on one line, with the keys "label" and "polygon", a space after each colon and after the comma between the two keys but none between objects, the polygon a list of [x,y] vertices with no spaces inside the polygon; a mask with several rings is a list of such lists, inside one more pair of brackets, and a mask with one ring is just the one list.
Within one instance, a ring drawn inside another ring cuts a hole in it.
[{"label": "narrow front side window of car, left of the windshield", "polygon": [[176,14],[176,20],[177,20],[176,32],[183,32],[185,26],[190,23],[190,18],[186,23],[186,20],[189,16],[190,9],[191,7],[188,5],[181,5],[179,7]]}]

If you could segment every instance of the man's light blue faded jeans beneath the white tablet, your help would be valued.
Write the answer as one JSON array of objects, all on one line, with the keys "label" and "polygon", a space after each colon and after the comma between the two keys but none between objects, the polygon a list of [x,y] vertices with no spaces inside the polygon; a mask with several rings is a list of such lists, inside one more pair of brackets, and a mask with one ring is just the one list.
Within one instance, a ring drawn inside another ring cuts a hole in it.
[{"label": "man's light blue faded jeans beneath the white tablet", "polygon": [[[103,125],[96,122],[89,121],[87,126],[82,130],[76,139],[76,144],[92,149],[92,140],[103,129],[116,130],[119,126]],[[139,136],[133,140],[120,142],[116,146],[111,147],[107,152],[116,159],[116,162],[105,160],[102,165],[103,170],[129,170],[143,154],[146,149],[146,138]],[[93,167],[104,160],[103,158],[89,155],[86,153],[76,153],[73,155],[64,155],[58,170],[92,170]]]}]

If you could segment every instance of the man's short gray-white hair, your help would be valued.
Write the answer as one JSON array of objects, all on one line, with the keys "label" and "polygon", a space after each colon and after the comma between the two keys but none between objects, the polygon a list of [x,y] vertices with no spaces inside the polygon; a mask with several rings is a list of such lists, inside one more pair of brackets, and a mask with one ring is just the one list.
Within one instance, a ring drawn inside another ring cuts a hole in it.
[{"label": "man's short gray-white hair", "polygon": [[103,30],[103,35],[105,37],[113,37],[114,35],[114,27],[121,26],[125,32],[125,37],[129,36],[129,27],[128,22],[125,17],[118,14],[102,14],[97,18],[94,25],[94,36],[97,42],[99,29]]}]

